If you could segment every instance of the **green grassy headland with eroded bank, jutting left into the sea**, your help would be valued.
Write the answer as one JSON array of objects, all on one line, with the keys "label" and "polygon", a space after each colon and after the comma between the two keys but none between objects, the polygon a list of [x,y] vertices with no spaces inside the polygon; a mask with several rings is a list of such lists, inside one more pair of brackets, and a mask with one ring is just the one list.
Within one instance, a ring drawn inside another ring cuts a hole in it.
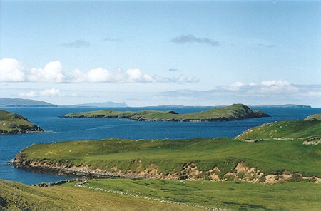
[{"label": "green grassy headland with eroded bank, jutting left into the sea", "polygon": [[236,170],[235,167],[242,163],[263,173],[263,177],[258,177],[260,182],[265,182],[264,176],[284,170],[321,177],[321,145],[303,145],[302,142],[270,140],[245,143],[230,138],[215,138],[39,143],[22,150],[15,162],[20,168],[36,161],[38,167],[46,163],[52,165],[49,168],[78,166],[80,170],[86,170],[85,166],[88,166],[88,169],[99,169],[102,173],[136,173],[143,177],[195,180],[210,180],[213,173],[220,180],[235,180],[230,173],[237,173],[239,178],[249,176]]}]

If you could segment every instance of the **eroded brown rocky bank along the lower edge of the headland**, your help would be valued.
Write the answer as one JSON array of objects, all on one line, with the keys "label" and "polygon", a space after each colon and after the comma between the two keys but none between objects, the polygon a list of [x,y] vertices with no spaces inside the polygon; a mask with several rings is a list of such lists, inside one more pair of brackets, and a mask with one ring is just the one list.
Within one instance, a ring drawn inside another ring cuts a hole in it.
[{"label": "eroded brown rocky bank along the lower edge of the headland", "polygon": [[37,173],[46,173],[54,175],[66,175],[71,177],[86,177],[93,178],[128,178],[128,179],[156,179],[156,180],[212,180],[212,181],[242,181],[263,184],[275,184],[280,182],[315,182],[321,183],[321,178],[316,176],[305,177],[302,173],[290,173],[283,170],[280,173],[265,174],[256,168],[250,168],[245,163],[240,162],[233,170],[220,176],[220,169],[214,167],[206,171],[208,178],[201,176],[202,170],[198,169],[195,163],[186,163],[180,172],[176,173],[158,173],[158,168],[155,165],[149,165],[145,170],[133,172],[128,170],[121,172],[116,167],[111,170],[91,169],[88,165],[69,166],[59,163],[46,163],[45,161],[26,161],[26,158],[14,158],[9,164],[16,168],[29,170]]}]

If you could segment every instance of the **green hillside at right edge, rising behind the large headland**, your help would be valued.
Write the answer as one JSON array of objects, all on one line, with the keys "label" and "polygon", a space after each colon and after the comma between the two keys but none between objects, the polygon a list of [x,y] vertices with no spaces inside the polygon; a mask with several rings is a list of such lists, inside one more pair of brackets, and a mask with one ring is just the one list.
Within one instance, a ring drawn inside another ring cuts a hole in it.
[{"label": "green hillside at right edge, rising behind the large headland", "polygon": [[250,128],[237,139],[309,138],[321,137],[321,120],[291,120],[267,123]]}]

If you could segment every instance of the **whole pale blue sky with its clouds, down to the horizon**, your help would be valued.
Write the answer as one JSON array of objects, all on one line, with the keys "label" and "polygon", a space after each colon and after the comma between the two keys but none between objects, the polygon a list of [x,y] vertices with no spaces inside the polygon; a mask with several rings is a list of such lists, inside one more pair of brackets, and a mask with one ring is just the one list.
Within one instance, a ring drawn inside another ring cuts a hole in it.
[{"label": "whole pale blue sky with its clouds, down to the horizon", "polygon": [[0,97],[321,107],[321,1],[1,1]]}]

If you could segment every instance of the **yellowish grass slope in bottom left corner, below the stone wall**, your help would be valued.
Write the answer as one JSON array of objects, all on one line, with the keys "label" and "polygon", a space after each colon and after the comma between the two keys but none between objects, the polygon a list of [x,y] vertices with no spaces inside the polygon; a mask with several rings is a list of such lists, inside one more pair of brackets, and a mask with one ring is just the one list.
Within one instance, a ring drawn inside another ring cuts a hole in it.
[{"label": "yellowish grass slope in bottom left corner, below the stone wall", "polygon": [[200,210],[67,186],[31,187],[0,180],[0,210]]}]

